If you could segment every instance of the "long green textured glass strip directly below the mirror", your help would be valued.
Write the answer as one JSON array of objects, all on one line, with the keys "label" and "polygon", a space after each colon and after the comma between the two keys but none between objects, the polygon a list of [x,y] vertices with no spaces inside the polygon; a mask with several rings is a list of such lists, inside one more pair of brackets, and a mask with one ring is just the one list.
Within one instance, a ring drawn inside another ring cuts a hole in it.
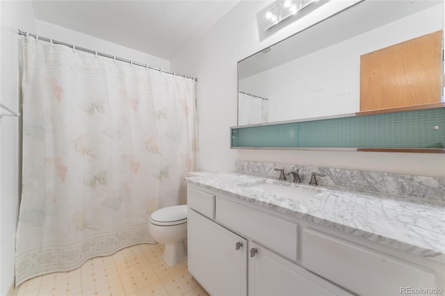
[{"label": "long green textured glass strip directly below the mirror", "polygon": [[234,128],[232,147],[445,148],[445,108]]}]

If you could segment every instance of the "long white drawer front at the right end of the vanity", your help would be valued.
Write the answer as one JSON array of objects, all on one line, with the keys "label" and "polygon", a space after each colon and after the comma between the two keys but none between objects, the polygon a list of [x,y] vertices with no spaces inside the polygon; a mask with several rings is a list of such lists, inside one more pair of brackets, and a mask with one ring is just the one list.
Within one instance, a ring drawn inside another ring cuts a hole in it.
[{"label": "long white drawer front at the right end of the vanity", "polygon": [[302,231],[302,265],[359,295],[436,286],[432,270],[312,229]]}]

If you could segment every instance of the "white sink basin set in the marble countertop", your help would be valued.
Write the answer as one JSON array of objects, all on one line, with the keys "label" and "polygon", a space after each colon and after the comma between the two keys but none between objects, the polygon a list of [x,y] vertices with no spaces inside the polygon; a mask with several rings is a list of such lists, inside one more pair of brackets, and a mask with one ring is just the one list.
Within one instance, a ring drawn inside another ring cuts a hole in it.
[{"label": "white sink basin set in the marble countertop", "polygon": [[293,184],[291,184],[291,186],[284,186],[276,183],[268,183],[266,181],[246,186],[246,188],[298,201],[305,201],[311,199],[314,195],[317,195],[318,193],[322,192],[322,190],[318,188],[310,188],[306,186],[295,186],[295,185],[292,186],[292,185]]}]

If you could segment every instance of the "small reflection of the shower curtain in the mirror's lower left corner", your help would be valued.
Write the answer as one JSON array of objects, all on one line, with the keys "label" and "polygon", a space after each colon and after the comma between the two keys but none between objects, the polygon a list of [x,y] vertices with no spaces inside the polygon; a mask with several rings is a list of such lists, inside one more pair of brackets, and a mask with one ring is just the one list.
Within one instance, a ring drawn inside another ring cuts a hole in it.
[{"label": "small reflection of the shower curtain in the mirror's lower left corner", "polygon": [[238,92],[238,125],[268,122],[269,101]]}]

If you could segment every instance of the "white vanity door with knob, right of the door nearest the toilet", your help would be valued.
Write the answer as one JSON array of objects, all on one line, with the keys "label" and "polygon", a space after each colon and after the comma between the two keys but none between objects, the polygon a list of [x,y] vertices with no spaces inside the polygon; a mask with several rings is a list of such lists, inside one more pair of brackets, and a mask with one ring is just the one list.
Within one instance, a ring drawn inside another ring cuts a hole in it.
[{"label": "white vanity door with knob, right of the door nearest the toilet", "polygon": [[[252,249],[256,252],[252,252]],[[250,296],[350,295],[338,286],[250,241],[249,256]]]}]

